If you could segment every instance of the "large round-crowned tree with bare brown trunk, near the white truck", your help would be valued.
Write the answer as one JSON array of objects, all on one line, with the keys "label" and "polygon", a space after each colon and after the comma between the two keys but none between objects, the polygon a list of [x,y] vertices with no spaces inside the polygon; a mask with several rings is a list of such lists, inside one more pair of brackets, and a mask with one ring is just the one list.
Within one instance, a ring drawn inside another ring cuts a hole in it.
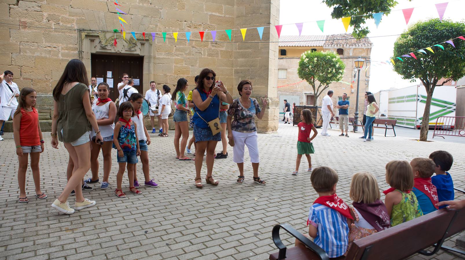
[{"label": "large round-crowned tree with bare brown trunk, near the white truck", "polygon": [[[420,141],[426,141],[428,137],[431,98],[434,88],[451,80],[458,80],[465,75],[465,42],[461,39],[454,40],[455,48],[444,43],[441,45],[444,50],[439,46],[434,46],[432,47],[434,53],[428,50],[426,50],[426,54],[417,51],[465,35],[464,27],[465,24],[462,22],[431,19],[409,27],[408,34],[402,34],[394,43],[393,58],[396,63],[394,71],[404,79],[414,81],[419,78],[426,89],[427,99],[421,123]],[[417,59],[401,57],[411,52]],[[402,58],[404,62],[395,57]],[[441,78],[445,78],[445,81],[439,82]]]}]

